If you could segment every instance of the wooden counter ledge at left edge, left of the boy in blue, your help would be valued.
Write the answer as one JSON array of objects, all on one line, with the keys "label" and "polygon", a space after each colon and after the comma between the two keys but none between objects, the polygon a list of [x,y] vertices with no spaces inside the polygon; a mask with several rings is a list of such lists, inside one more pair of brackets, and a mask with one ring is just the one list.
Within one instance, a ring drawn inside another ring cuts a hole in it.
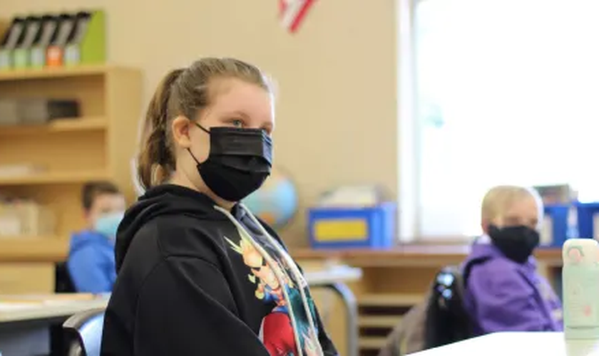
[{"label": "wooden counter ledge at left edge, left of the boy in blue", "polygon": [[65,261],[68,241],[56,237],[0,238],[0,262]]}]

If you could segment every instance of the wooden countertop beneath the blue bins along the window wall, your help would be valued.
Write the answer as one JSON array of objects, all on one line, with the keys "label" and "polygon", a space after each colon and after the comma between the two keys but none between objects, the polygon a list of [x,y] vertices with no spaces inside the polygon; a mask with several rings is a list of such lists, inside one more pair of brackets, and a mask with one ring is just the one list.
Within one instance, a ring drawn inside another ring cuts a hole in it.
[{"label": "wooden countertop beneath the blue bins along the window wall", "polygon": [[[351,266],[443,266],[460,263],[470,251],[469,245],[405,244],[388,250],[291,249],[296,259],[334,259]],[[541,263],[561,266],[561,248],[538,248],[535,256]]]}]

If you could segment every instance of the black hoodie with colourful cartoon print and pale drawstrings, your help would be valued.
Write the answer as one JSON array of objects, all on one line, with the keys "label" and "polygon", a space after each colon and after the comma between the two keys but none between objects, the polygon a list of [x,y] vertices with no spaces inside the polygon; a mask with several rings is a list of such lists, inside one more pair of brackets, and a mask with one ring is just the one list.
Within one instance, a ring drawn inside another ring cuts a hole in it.
[{"label": "black hoodie with colourful cartoon print and pale drawstrings", "polygon": [[127,211],[101,355],[337,355],[275,232],[215,205],[163,185]]}]

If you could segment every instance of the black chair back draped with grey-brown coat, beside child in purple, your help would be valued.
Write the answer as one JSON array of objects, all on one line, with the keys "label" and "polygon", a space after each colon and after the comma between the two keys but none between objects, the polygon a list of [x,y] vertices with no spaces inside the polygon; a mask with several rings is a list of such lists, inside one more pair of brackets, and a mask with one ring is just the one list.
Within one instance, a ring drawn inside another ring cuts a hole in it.
[{"label": "black chair back draped with grey-brown coat, beside child in purple", "polygon": [[472,337],[473,324],[464,309],[464,289],[473,266],[487,260],[475,258],[463,270],[456,266],[442,268],[424,300],[391,331],[379,356],[411,354]]}]

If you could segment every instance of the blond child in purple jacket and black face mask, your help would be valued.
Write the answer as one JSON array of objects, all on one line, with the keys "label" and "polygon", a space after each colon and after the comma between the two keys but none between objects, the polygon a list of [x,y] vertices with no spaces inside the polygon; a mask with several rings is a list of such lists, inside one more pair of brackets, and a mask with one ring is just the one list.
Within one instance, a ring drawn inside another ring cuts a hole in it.
[{"label": "blond child in purple jacket and black face mask", "polygon": [[561,303],[536,271],[543,203],[533,189],[500,186],[483,199],[485,234],[464,262],[464,295],[475,333],[563,330]]}]

